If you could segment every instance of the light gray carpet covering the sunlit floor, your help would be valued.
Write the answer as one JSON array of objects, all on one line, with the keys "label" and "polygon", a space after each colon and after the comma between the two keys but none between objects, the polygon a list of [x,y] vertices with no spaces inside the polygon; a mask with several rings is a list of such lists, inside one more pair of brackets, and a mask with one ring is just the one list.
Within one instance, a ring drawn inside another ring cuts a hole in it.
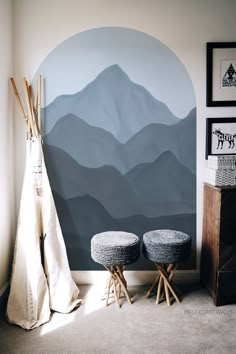
[{"label": "light gray carpet covering the sunlit floor", "polygon": [[106,308],[101,289],[80,286],[84,305],[27,332],[0,319],[1,354],[236,353],[236,305],[215,307],[198,285],[181,287],[185,296],[171,307],[145,299],[146,287],[130,289],[134,303],[114,299]]}]

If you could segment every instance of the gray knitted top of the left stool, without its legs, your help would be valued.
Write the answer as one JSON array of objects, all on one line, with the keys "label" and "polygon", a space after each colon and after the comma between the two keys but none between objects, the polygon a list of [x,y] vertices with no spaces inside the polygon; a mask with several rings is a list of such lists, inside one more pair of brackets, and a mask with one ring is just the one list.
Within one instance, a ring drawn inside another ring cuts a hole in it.
[{"label": "gray knitted top of the left stool, without its legs", "polygon": [[124,231],[106,231],[91,239],[91,256],[97,263],[114,266],[135,262],[140,255],[138,236]]}]

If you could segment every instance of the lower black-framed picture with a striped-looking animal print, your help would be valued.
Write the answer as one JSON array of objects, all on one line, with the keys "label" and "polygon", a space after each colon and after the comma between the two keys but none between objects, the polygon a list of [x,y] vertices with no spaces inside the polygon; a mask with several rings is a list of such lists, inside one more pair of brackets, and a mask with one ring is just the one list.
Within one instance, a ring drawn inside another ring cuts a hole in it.
[{"label": "lower black-framed picture with a striped-looking animal print", "polygon": [[208,155],[236,154],[236,118],[207,118],[206,159]]}]

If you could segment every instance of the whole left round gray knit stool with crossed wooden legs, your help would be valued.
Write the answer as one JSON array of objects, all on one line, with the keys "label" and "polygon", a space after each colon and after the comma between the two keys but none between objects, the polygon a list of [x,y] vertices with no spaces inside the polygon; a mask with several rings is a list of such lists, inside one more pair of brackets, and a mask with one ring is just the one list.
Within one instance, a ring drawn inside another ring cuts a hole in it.
[{"label": "whole left round gray knit stool with crossed wooden legs", "polygon": [[114,293],[116,303],[120,307],[121,291],[131,304],[124,277],[125,266],[135,262],[140,255],[138,236],[124,231],[106,231],[96,234],[91,239],[91,256],[97,263],[102,264],[109,272],[105,297],[106,306],[109,296]]}]

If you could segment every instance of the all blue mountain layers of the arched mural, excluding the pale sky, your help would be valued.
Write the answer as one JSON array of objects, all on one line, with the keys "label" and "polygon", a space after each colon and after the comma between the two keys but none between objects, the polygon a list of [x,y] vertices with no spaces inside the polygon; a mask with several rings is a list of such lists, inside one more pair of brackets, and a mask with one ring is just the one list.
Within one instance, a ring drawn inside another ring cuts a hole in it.
[{"label": "all blue mountain layers of the arched mural, excluding the pale sky", "polygon": [[[72,269],[101,231],[172,228],[196,247],[196,109],[179,119],[112,65],[44,109],[44,153]],[[133,269],[150,269],[143,257]]]}]

